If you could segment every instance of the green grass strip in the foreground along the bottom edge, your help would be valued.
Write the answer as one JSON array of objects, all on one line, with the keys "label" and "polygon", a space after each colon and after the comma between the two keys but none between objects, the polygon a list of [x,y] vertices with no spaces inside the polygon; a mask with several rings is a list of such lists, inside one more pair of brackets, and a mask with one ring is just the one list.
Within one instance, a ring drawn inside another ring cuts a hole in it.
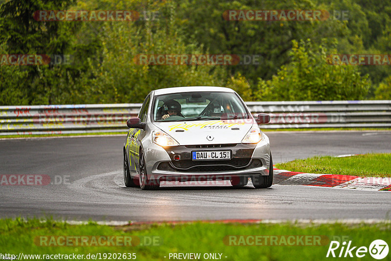
[{"label": "green grass strip in the foreground along the bottom edge", "polygon": [[[352,246],[369,248],[370,243],[375,239],[390,242],[390,229],[391,223],[389,222],[356,225],[342,223],[304,225],[299,223],[212,224],[195,222],[176,225],[109,227],[93,222],[86,225],[69,225],[51,219],[44,222],[38,219],[26,222],[19,218],[0,219],[0,252],[18,257],[20,253],[41,255],[41,260],[44,258],[42,255],[56,254],[76,254],[84,255],[84,257],[87,254],[100,254],[101,260],[109,260],[110,254],[111,259],[114,259],[113,253],[117,254],[116,260],[119,260],[118,254],[120,253],[135,253],[137,260],[170,260],[170,253],[200,253],[199,260],[205,260],[203,255],[208,253],[219,253],[221,259],[226,261],[329,260],[330,258],[326,258],[326,254],[331,240],[340,242],[351,240]],[[236,238],[230,237],[235,235]],[[61,240],[61,236],[67,236],[65,241]],[[81,241],[71,238],[80,236],[88,237],[83,246],[80,245]],[[92,243],[92,238],[99,239],[101,236],[117,236],[114,240],[116,245],[102,246],[99,244],[105,244],[105,241],[99,243],[99,240],[96,244]],[[269,237],[258,237],[259,240],[256,241],[247,236]],[[277,238],[272,241],[275,236]],[[294,237],[289,239],[289,236]],[[131,242],[137,242],[136,239],[138,239],[140,244],[120,246],[117,243],[118,237],[132,237]],[[300,239],[300,237],[302,238]],[[73,240],[66,241],[66,239]],[[266,239],[268,243],[266,243]],[[44,242],[50,246],[45,246]],[[65,242],[65,246],[56,245],[62,242]],[[79,242],[78,245],[77,242]],[[335,251],[336,255],[340,250],[341,247]],[[106,258],[104,258],[105,254]],[[218,254],[217,257],[219,257]],[[57,259],[60,260],[60,258]],[[124,259],[123,256],[121,259]],[[38,257],[24,257],[23,260],[39,259]],[[84,260],[87,259],[84,258]],[[97,260],[100,258],[98,257]],[[366,253],[366,256],[360,260],[373,259],[369,253]]]}]

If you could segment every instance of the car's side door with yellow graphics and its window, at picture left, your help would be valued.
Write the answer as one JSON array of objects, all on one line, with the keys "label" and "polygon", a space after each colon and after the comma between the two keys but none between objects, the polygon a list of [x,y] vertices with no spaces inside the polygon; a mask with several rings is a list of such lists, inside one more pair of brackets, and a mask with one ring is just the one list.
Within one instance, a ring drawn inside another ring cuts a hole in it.
[{"label": "car's side door with yellow graphics and its window, at picture left", "polygon": [[[140,112],[138,114],[138,118],[141,120],[141,122],[146,122],[148,117],[148,109],[150,107],[150,101],[151,101],[151,95],[148,95],[144,103],[140,109]],[[140,146],[141,146],[141,140],[145,137],[145,131],[142,129],[134,129],[132,133],[130,134],[130,154],[131,156],[131,164],[134,166],[134,170],[138,170],[138,163],[140,158]]]}]

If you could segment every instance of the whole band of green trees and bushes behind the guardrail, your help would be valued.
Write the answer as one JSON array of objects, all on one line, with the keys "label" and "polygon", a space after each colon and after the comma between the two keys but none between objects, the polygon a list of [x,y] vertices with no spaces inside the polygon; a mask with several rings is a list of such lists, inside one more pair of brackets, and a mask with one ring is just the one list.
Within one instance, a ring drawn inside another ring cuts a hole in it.
[{"label": "whole band of green trees and bushes behind the guardrail", "polygon": [[[387,93],[390,66],[327,65],[325,59],[332,53],[389,54],[390,3],[0,0],[0,53],[73,57],[70,65],[0,66],[0,105],[142,102],[152,89],[187,85],[232,86],[248,101],[389,97],[382,92]],[[225,20],[224,11],[232,9],[323,9],[331,17]],[[33,18],[37,10],[136,10],[141,17],[135,22],[40,22]],[[334,19],[334,11],[347,11],[347,20]],[[261,59],[230,66],[134,63],[139,54],[205,53]]]}]

